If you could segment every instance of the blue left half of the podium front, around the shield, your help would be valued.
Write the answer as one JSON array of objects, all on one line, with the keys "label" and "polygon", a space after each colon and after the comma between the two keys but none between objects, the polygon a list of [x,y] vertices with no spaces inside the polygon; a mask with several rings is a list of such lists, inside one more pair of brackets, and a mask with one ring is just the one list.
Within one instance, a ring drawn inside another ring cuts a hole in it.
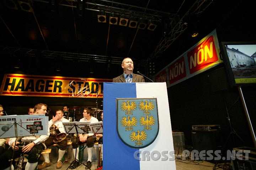
[{"label": "blue left half of the podium front, around the shield", "polygon": [[139,170],[134,153],[139,149],[125,145],[117,134],[116,98],[136,98],[136,83],[103,84],[103,166],[104,169]]}]

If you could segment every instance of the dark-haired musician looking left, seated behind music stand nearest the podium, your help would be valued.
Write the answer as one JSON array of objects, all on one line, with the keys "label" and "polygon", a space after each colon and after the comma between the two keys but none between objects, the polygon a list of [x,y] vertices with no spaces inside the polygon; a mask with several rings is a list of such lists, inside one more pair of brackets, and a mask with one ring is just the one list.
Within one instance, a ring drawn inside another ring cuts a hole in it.
[{"label": "dark-haired musician looking left, seated behind music stand nearest the podium", "polygon": [[[98,119],[96,119],[95,117],[92,117],[92,112],[93,111],[91,108],[84,108],[84,112],[83,112],[84,118],[80,119],[80,122],[97,123]],[[94,146],[94,142],[96,142],[96,138],[92,137],[92,136],[94,136],[93,133],[86,133],[86,134],[80,133],[78,141],[76,141],[76,138],[74,138],[74,140],[72,142],[74,156],[77,159],[79,156],[79,149],[78,149],[77,143],[79,145],[86,143],[86,145],[87,145],[88,160],[87,160],[85,169],[91,168],[91,162],[92,162],[91,159],[92,159],[92,151],[93,151],[92,147]],[[75,153],[76,153],[76,155],[75,155]],[[77,167],[78,165],[79,165],[79,162],[75,161],[74,167]]]}]

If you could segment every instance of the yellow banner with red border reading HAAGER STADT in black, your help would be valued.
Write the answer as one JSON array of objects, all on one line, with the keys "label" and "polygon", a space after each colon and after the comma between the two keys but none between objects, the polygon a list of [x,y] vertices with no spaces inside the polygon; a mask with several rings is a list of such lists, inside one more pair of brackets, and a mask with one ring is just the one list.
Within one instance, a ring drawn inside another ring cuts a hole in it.
[{"label": "yellow banner with red border reading HAAGER STADT in black", "polygon": [[112,79],[5,74],[0,95],[103,98]]}]

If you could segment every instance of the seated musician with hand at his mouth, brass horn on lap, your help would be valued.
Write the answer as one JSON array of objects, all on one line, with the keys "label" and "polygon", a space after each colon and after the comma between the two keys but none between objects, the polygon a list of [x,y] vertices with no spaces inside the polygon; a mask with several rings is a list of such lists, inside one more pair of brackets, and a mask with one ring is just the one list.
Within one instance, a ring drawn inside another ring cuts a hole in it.
[{"label": "seated musician with hand at his mouth, brass horn on lap", "polygon": [[[56,115],[55,117],[53,116],[53,119],[49,121],[48,127],[51,127],[52,125],[55,125],[60,133],[65,133],[64,127],[62,122],[69,122],[68,119],[65,119],[63,117],[63,111],[62,110],[57,110],[56,111]],[[48,129],[48,131],[50,132],[50,130]],[[64,134],[63,134],[64,135]],[[66,133],[65,133],[66,135]],[[54,140],[58,140],[56,139],[56,136],[52,136],[50,135],[49,138],[44,142],[44,144],[46,145],[46,147],[51,146],[52,144],[54,144]],[[57,165],[56,168],[62,168],[62,157],[64,156],[65,152],[66,152],[66,148],[67,148],[67,142],[68,142],[68,138],[65,138],[64,140],[57,142],[57,144],[59,145],[59,158],[57,161]],[[50,166],[51,162],[49,159],[49,153],[46,154],[42,154],[43,158],[44,158],[44,163],[40,166],[38,166],[38,169],[44,169],[47,166]]]}]

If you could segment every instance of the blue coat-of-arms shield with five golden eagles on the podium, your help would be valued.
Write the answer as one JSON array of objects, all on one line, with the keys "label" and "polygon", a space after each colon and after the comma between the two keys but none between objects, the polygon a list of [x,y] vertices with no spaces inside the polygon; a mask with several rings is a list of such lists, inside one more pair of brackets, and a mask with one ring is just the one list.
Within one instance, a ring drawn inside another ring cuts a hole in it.
[{"label": "blue coat-of-arms shield with five golden eagles on the podium", "polygon": [[158,135],[159,120],[156,98],[119,98],[117,134],[131,148],[145,148]]}]

